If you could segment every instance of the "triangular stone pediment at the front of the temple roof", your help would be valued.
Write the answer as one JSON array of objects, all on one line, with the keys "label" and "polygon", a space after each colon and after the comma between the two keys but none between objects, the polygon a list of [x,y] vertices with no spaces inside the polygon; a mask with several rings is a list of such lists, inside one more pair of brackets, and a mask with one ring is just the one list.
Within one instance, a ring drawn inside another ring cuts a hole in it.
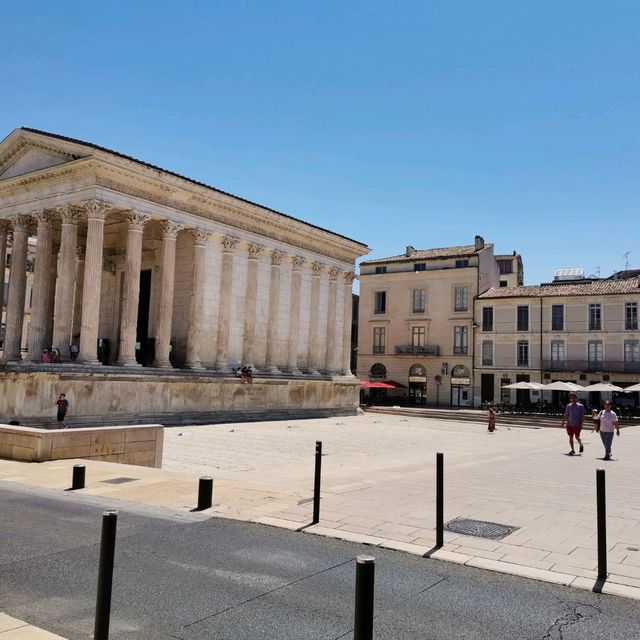
[{"label": "triangular stone pediment at the front of the temple roof", "polygon": [[[0,145],[0,180],[23,176],[34,171],[56,167],[86,154],[73,153],[55,140],[34,139],[21,130],[14,131]],[[75,151],[75,150],[74,150]]]}]

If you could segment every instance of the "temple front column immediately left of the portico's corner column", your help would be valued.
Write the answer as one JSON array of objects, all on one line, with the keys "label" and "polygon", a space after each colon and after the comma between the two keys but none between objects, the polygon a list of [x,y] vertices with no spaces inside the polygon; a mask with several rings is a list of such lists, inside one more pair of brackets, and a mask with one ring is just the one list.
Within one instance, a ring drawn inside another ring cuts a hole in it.
[{"label": "temple front column immediately left of the portico's corner column", "polygon": [[[73,325],[73,294],[76,286],[76,252],[78,249],[78,223],[81,211],[76,207],[60,207],[61,232],[60,271],[56,286],[53,312],[53,346],[60,349],[63,360],[69,360],[69,345]],[[101,254],[102,255],[102,254]]]}]

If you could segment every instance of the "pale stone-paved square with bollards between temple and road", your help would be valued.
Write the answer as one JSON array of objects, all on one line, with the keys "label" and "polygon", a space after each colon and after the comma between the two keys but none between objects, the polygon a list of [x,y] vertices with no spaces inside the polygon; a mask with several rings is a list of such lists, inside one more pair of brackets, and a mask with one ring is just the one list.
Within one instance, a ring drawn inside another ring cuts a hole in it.
[{"label": "pale stone-paved square with bollards between temple and road", "polygon": [[[249,520],[593,589],[597,576],[595,470],[607,472],[609,578],[602,591],[640,599],[640,428],[622,430],[603,462],[597,434],[569,457],[560,429],[392,415],[177,427],[164,468],[80,461],[103,497],[190,510],[197,479],[214,477],[217,517]],[[320,523],[311,522],[315,441],[323,442]],[[518,527],[502,540],[445,531],[435,545],[435,453],[445,454],[445,522]],[[79,461],[0,461],[0,478],[65,489]],[[111,484],[106,480],[134,478]]]}]

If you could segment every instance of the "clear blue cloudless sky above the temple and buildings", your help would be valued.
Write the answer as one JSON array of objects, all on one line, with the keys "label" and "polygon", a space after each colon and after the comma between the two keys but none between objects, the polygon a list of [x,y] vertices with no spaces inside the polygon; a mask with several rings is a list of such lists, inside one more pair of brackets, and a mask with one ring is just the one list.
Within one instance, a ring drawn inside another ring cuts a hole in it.
[{"label": "clear blue cloudless sky above the temple and buildings", "polygon": [[0,138],[135,156],[368,244],[640,267],[640,3],[0,9]]}]

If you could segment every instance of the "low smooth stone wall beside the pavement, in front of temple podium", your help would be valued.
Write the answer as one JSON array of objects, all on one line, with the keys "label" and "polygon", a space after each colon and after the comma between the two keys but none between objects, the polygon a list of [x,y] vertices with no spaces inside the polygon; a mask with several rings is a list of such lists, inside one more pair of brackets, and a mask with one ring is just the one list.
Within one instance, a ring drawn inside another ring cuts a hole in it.
[{"label": "low smooth stone wall beside the pavement, in front of temple podium", "polygon": [[163,442],[159,424],[55,430],[0,424],[0,458],[25,462],[84,458],[160,468]]}]

